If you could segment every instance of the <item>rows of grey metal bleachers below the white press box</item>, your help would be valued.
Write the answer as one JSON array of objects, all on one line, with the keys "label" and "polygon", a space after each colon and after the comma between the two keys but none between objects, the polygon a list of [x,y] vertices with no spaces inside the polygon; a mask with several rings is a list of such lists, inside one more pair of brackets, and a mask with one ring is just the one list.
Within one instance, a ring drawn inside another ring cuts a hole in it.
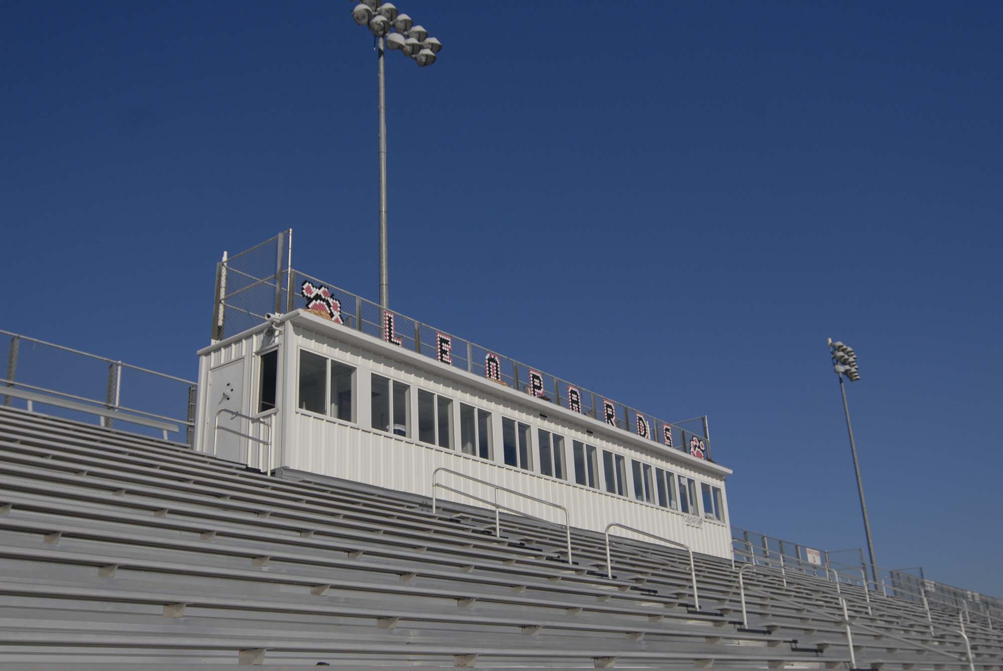
[{"label": "rows of grey metal bleachers below the white press box", "polygon": [[[0,408],[5,669],[1003,669],[971,617],[860,586]],[[839,591],[838,591],[839,590]],[[699,597],[699,609],[697,599]],[[844,619],[841,598],[849,618]],[[870,599],[870,601],[868,601]]]}]

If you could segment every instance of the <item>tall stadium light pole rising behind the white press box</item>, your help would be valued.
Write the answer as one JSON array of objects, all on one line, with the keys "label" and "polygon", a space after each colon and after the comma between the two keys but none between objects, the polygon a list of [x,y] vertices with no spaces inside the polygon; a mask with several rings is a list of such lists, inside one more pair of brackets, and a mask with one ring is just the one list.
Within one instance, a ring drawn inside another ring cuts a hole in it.
[{"label": "tall stadium light pole rising behind the white press box", "polygon": [[[379,304],[390,306],[389,273],[386,242],[386,93],[383,85],[383,38],[386,45],[400,51],[425,67],[435,62],[442,43],[428,37],[428,31],[416,26],[407,14],[401,14],[391,2],[362,0],[352,9],[352,18],[360,26],[368,26],[376,38],[376,62],[379,72]],[[396,31],[396,32],[394,32]]]}]

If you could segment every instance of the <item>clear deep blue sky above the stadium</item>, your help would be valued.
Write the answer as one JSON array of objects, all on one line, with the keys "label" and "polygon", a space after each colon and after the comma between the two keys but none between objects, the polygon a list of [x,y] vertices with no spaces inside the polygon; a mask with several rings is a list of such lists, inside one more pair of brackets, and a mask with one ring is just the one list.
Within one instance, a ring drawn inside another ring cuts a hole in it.
[{"label": "clear deep blue sky above the stadium", "polygon": [[[1003,5],[440,2],[387,56],[396,309],[669,420],[735,525],[1003,596]],[[0,9],[0,327],[183,376],[214,263],[377,297],[351,2]],[[141,287],[137,290],[136,287]]]}]

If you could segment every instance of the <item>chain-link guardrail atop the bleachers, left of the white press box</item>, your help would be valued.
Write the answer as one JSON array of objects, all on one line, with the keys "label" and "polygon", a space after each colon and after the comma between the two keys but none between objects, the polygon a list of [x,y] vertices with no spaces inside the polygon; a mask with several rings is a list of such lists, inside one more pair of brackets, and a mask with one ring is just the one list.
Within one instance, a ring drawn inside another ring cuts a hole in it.
[{"label": "chain-link guardrail atop the bleachers, left of the white press box", "polygon": [[127,431],[148,435],[143,430],[151,429],[164,440],[168,433],[184,428],[180,442],[192,444],[195,382],[0,329],[0,344],[4,341],[7,370],[0,378],[4,406],[15,400],[49,405],[96,416],[104,427],[119,421],[134,425]]}]

